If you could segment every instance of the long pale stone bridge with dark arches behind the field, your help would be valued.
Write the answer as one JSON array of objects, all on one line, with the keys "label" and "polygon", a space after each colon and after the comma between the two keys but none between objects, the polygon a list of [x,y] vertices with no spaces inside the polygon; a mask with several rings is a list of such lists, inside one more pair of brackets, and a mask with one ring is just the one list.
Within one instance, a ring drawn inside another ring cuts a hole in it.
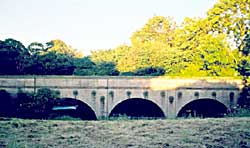
[{"label": "long pale stone bridge with dark arches behind the field", "polygon": [[97,118],[133,115],[138,110],[174,118],[195,107],[210,113],[235,106],[242,81],[227,77],[0,76],[0,89],[9,92],[43,87],[60,91],[61,98],[80,100]]}]

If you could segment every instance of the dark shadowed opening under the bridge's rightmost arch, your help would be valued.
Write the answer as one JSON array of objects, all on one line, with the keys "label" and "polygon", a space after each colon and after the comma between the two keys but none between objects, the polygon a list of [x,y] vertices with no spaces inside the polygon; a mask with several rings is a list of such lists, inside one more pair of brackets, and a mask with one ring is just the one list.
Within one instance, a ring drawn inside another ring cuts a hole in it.
[{"label": "dark shadowed opening under the bridge's rightmost arch", "polygon": [[177,117],[223,117],[226,113],[227,107],[215,99],[197,99],[182,107]]}]

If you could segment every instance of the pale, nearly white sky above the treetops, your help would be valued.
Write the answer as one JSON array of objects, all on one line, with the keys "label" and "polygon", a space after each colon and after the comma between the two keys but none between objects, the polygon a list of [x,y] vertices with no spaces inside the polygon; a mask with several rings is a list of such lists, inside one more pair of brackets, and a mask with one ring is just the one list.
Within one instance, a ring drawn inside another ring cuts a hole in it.
[{"label": "pale, nearly white sky above the treetops", "polygon": [[155,15],[180,24],[185,17],[205,17],[217,0],[0,0],[0,40],[25,46],[61,39],[81,50],[130,44],[133,32]]}]

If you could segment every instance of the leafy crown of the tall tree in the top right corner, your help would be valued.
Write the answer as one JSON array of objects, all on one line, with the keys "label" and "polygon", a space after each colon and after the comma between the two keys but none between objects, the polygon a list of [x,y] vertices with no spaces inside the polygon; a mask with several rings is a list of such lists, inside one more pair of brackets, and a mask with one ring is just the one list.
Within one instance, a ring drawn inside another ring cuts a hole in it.
[{"label": "leafy crown of the tall tree in the top right corner", "polygon": [[243,50],[243,40],[250,29],[249,4],[249,0],[219,0],[207,13],[213,31],[226,33],[235,41],[239,51]]}]

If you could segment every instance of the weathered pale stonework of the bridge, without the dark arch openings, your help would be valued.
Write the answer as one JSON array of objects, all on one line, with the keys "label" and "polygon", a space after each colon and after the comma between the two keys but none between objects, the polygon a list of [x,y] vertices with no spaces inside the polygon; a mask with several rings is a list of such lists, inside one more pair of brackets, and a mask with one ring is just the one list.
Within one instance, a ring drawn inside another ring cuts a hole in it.
[{"label": "weathered pale stonework of the bridge, without the dark arch openings", "polygon": [[[242,81],[232,78],[171,78],[171,77],[80,77],[80,76],[1,76],[0,89],[36,91],[48,87],[59,90],[61,97],[74,98],[88,104],[101,116],[100,98],[105,97],[104,115],[108,116],[120,102],[130,98],[144,98],[157,104],[167,117],[175,117],[180,109],[195,99],[216,99],[229,107],[230,93],[237,103]],[[96,92],[93,96],[93,91]],[[110,93],[112,92],[112,93]],[[111,95],[112,94],[112,95]],[[180,95],[181,94],[181,95]],[[172,103],[169,98],[173,99]],[[93,101],[94,100],[94,101]]]}]

